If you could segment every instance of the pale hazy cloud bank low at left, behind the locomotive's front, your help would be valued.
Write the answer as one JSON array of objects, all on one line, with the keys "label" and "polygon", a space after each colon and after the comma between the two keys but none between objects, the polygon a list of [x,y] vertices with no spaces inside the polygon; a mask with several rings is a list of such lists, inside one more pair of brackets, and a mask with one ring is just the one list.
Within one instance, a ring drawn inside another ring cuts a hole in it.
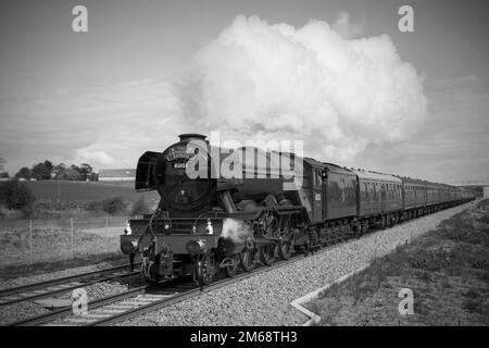
[{"label": "pale hazy cloud bank low at left, behind the locomotive's front", "polygon": [[167,80],[99,84],[0,105],[0,151],[15,172],[45,159],[96,169],[135,166],[173,142],[183,126]]}]

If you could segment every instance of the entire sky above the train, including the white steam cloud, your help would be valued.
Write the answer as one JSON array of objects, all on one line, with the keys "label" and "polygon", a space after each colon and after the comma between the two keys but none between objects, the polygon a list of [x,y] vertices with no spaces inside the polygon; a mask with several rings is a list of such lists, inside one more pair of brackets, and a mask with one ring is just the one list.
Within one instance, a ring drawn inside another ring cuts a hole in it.
[{"label": "entire sky above the train, including the white steam cloud", "polygon": [[[72,9],[88,10],[74,33]],[[414,33],[398,10],[414,10]],[[0,158],[134,167],[179,133],[489,182],[482,1],[3,1]],[[486,44],[485,44],[486,42]],[[374,100],[374,101],[372,101]]]}]

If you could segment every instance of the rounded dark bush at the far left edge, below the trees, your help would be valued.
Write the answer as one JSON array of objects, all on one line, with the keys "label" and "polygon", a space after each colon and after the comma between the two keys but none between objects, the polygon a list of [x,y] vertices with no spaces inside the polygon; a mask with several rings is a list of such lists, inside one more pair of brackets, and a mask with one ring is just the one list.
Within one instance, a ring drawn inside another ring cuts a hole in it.
[{"label": "rounded dark bush at the far left edge, below the trees", "polygon": [[0,206],[9,210],[21,210],[29,215],[36,200],[30,188],[17,181],[0,183]]}]

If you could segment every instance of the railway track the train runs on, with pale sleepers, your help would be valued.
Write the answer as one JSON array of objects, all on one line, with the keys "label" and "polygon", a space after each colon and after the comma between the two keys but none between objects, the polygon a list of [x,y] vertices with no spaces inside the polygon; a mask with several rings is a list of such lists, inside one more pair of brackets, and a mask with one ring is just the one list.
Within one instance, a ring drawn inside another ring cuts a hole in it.
[{"label": "railway track the train runs on, with pale sleepers", "polygon": [[[326,250],[328,248],[322,249]],[[104,326],[125,321],[161,308],[174,304],[188,298],[215,290],[234,282],[244,279],[261,272],[283,266],[303,258],[303,253],[280,260],[271,266],[255,264],[253,272],[240,272],[234,277],[220,277],[209,286],[200,287],[191,279],[176,279],[156,289],[151,286],[140,286],[122,294],[112,295],[88,303],[86,315],[76,315],[72,308],[59,309],[46,314],[28,318],[7,324],[8,326]]]}]

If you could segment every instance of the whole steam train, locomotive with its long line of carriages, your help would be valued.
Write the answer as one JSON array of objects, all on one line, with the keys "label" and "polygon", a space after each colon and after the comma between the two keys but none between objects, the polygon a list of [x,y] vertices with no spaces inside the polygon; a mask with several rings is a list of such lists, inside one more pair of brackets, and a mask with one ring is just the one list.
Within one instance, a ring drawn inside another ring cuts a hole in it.
[{"label": "whole steam train, locomotive with its long line of carriages", "polygon": [[[235,175],[212,175],[215,163],[244,150],[251,150],[253,160],[246,163],[241,156],[242,163],[228,163],[236,165]],[[290,188],[297,177],[275,173],[277,161],[300,163],[301,185]],[[199,175],[189,175],[192,166]],[[191,275],[201,286],[220,273],[231,277],[240,270],[251,272],[256,262],[271,265],[294,252],[308,254],[371,228],[475,199],[474,191],[460,187],[291,152],[246,147],[222,151],[200,134],[179,135],[163,152],[145,152],[135,188],[156,190],[161,199],[153,213],[127,221],[121,235],[121,250],[131,268],[139,256],[141,276],[149,283]]]}]

